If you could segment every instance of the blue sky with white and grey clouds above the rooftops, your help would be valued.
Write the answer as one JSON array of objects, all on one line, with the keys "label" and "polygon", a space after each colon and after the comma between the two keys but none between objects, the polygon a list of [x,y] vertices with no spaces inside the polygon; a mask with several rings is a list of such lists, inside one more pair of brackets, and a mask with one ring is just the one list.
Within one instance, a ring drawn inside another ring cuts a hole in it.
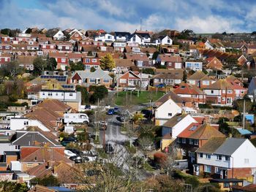
[{"label": "blue sky with white and grey clouds above the rooftops", "polygon": [[256,31],[255,0],[0,0],[0,28]]}]

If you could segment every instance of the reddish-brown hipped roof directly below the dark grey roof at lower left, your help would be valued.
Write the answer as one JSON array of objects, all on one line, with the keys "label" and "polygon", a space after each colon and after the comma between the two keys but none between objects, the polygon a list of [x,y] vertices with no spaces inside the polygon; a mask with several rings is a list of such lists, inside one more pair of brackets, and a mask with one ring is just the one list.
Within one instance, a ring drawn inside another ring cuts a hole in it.
[{"label": "reddish-brown hipped roof directly below the dark grey roof at lower left", "polygon": [[57,150],[49,149],[48,147],[38,147],[33,153],[22,158],[21,162],[45,162],[45,161],[64,161],[67,164],[72,164],[72,161],[59,153]]}]

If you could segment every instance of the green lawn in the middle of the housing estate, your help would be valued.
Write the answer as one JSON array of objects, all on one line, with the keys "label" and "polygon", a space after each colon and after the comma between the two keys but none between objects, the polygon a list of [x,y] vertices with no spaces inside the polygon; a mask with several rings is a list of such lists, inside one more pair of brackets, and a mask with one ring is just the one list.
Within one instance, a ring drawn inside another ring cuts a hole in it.
[{"label": "green lawn in the middle of the housing estate", "polygon": [[155,91],[141,91],[139,94],[137,91],[121,91],[116,94],[116,104],[124,106],[126,104],[143,104],[149,103],[150,100],[157,101],[164,92],[155,92]]}]

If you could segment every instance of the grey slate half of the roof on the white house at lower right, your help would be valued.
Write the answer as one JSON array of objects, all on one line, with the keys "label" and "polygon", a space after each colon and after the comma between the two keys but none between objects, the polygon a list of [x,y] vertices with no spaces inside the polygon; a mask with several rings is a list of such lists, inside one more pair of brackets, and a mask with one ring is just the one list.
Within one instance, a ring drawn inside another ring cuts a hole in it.
[{"label": "grey slate half of the roof on the white house at lower right", "polygon": [[246,139],[228,138],[214,153],[232,155],[245,141]]}]

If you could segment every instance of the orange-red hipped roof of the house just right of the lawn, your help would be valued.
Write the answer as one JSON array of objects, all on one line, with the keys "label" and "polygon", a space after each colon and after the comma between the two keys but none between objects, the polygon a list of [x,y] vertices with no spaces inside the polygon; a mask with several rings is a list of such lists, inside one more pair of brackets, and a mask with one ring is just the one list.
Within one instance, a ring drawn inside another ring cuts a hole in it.
[{"label": "orange-red hipped roof of the house just right of the lawn", "polygon": [[203,91],[201,91],[200,88],[186,82],[182,82],[178,88],[173,90],[173,92],[176,94],[203,95]]}]

